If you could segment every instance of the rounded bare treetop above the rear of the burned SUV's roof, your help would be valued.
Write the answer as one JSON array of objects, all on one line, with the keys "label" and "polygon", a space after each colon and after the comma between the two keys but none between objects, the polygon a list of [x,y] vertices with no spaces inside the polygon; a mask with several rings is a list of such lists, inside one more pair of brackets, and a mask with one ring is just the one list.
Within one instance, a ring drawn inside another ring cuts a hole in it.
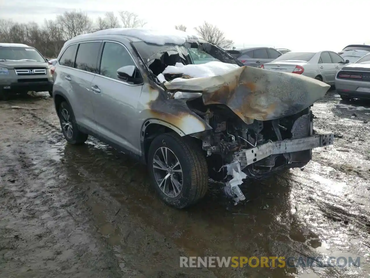
[{"label": "rounded bare treetop above the rear of the burned SUV's roof", "polygon": [[65,40],[91,31],[92,21],[82,11],[65,11],[57,17]]}]

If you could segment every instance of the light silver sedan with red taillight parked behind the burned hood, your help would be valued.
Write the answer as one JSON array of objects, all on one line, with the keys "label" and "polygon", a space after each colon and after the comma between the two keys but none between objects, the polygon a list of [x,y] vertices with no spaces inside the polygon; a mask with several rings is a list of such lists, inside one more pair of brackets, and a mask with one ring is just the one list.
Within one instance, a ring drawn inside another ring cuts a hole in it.
[{"label": "light silver sedan with red taillight parked behind the burned hood", "polygon": [[291,72],[334,85],[337,72],[349,61],[332,51],[288,52],[261,67],[276,72]]}]

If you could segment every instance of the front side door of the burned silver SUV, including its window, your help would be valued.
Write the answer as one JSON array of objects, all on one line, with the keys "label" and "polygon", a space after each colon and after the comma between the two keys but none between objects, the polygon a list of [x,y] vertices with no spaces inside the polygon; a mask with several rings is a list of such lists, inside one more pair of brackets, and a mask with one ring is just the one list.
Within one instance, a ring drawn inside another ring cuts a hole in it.
[{"label": "front side door of the burned silver SUV, including its window", "polygon": [[133,130],[140,130],[135,119],[142,85],[130,84],[117,76],[120,67],[129,65],[136,66],[123,44],[104,42],[99,73],[91,83],[92,103],[99,135],[139,154],[138,134],[133,134]]}]

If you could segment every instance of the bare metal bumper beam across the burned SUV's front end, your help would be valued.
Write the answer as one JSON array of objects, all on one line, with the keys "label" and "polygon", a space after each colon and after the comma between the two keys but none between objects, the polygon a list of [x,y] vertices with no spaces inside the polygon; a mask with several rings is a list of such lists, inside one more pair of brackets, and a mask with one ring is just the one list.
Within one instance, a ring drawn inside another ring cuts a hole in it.
[{"label": "bare metal bumper beam across the burned SUV's front end", "polygon": [[312,136],[268,142],[251,149],[239,151],[238,158],[241,166],[248,166],[270,155],[299,152],[333,144],[334,133],[323,132]]}]

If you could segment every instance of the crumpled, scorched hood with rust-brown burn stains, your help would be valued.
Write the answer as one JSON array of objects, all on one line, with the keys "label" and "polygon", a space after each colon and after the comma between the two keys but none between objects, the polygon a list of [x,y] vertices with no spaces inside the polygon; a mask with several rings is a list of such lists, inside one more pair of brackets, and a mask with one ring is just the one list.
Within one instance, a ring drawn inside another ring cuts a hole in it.
[{"label": "crumpled, scorched hood with rust-brown burn stains", "polygon": [[171,92],[202,93],[205,105],[226,105],[245,123],[298,113],[330,88],[310,77],[248,66],[219,76],[175,79],[164,86]]}]

